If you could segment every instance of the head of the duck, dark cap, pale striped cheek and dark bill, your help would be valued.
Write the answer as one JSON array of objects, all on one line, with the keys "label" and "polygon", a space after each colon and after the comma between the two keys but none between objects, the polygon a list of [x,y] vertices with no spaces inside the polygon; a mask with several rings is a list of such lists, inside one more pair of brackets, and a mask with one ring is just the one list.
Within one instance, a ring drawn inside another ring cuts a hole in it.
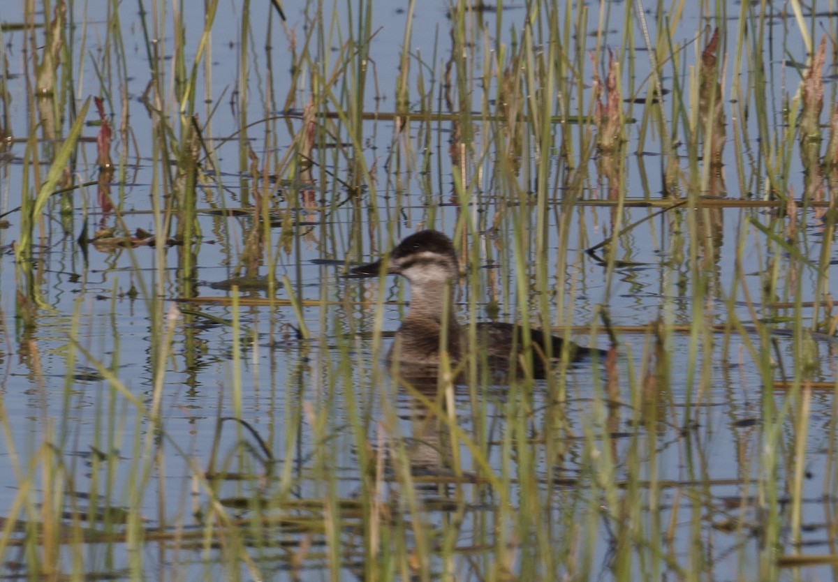
[{"label": "head of the duck, dark cap, pale striped cheek and dark bill", "polygon": [[420,230],[402,240],[390,255],[375,263],[355,267],[354,276],[378,276],[386,265],[386,273],[401,275],[413,285],[442,284],[459,275],[457,253],[445,234],[437,230]]}]

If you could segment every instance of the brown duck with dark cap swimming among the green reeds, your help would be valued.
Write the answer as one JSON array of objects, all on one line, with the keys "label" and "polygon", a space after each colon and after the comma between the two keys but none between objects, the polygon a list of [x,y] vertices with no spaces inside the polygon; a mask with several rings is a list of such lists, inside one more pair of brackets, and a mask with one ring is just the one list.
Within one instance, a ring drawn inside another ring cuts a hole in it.
[{"label": "brown duck with dark cap swimming among the green reeds", "polygon": [[[460,276],[457,251],[451,239],[437,230],[421,230],[403,239],[380,260],[349,270],[349,276],[381,274],[404,277],[411,286],[410,308],[396,337],[388,362],[402,366],[438,368],[443,354],[449,363],[461,363],[468,354],[485,354],[494,376],[523,375],[525,331],[506,322],[478,322],[477,346],[469,345],[467,330],[460,325],[454,306],[454,286]],[[532,365],[528,375],[544,379],[566,349],[572,362],[606,352],[585,348],[539,329],[530,329]],[[480,361],[480,360],[478,360]]]}]

